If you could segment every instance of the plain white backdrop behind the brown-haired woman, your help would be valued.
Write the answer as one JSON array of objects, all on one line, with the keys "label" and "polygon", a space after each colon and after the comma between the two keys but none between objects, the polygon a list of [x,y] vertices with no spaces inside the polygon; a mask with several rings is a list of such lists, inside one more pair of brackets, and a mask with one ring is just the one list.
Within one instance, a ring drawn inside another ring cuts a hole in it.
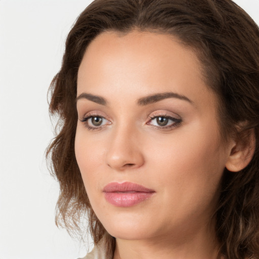
[{"label": "plain white backdrop behind the brown-haired woman", "polygon": [[[58,184],[47,91],[64,41],[91,0],[0,0],[0,259],[75,259],[87,244],[54,222]],[[236,0],[259,24],[259,0]]]}]

